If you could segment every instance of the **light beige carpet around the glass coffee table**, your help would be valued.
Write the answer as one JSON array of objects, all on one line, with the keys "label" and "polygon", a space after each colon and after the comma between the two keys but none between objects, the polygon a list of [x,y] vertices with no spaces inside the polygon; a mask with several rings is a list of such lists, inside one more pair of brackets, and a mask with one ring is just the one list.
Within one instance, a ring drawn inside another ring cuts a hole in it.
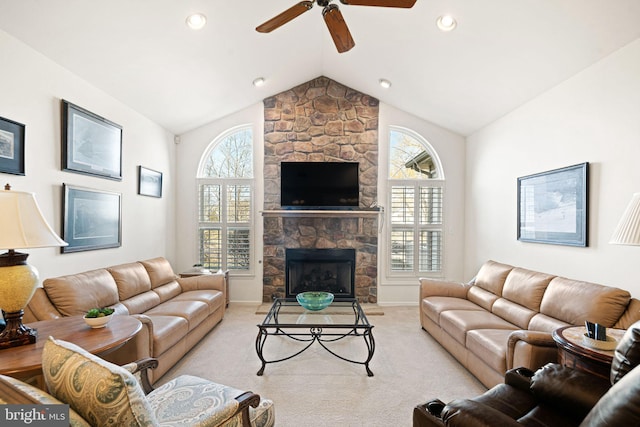
[{"label": "light beige carpet around the glass coffee table", "polygon": [[[255,305],[231,303],[216,326],[156,386],[182,374],[197,375],[275,403],[279,427],[411,426],[413,407],[431,398],[445,402],[477,396],[486,388],[420,327],[417,307],[384,307],[369,321],[375,339],[368,377],[362,365],[342,361],[314,343],[299,356],[267,364],[263,376],[256,355],[256,325],[264,316]],[[271,345],[270,345],[271,344]],[[300,348],[285,337],[269,337],[265,354]],[[366,355],[361,338],[336,343],[349,357]]]}]

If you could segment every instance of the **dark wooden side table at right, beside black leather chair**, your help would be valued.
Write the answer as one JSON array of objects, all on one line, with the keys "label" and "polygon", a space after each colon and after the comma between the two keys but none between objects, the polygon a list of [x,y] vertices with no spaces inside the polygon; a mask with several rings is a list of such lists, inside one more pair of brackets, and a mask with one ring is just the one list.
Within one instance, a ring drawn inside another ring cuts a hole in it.
[{"label": "dark wooden side table at right, beside black leather chair", "polygon": [[[584,345],[584,326],[565,326],[553,331],[553,340],[558,346],[558,363],[609,379],[613,350],[598,350]],[[623,329],[607,329],[607,335],[620,340]]]}]

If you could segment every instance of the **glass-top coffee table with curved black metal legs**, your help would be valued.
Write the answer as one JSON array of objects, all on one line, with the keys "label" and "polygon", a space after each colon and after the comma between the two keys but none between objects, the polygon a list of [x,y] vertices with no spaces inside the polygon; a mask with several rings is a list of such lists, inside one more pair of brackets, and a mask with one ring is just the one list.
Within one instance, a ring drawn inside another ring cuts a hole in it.
[{"label": "glass-top coffee table with curved black metal legs", "polygon": [[[336,298],[329,307],[318,310],[306,310],[295,298],[277,298],[261,324],[258,325],[256,352],[262,361],[258,375],[264,373],[267,363],[289,360],[317,342],[329,353],[350,363],[364,365],[367,375],[372,377],[369,362],[375,351],[375,341],[371,333],[373,326],[369,324],[360,303],[354,298]],[[267,338],[280,336],[302,343],[302,349],[285,357],[267,360],[264,347]],[[329,343],[343,338],[362,338],[367,349],[364,361],[353,360],[338,354],[328,347]]]}]

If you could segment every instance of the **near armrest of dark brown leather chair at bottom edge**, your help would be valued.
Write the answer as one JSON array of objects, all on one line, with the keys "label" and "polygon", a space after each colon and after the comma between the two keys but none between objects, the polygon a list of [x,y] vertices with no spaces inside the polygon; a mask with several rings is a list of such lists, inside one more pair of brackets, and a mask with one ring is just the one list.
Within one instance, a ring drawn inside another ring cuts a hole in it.
[{"label": "near armrest of dark brown leather chair at bottom edge", "polygon": [[469,399],[449,402],[442,410],[442,420],[450,427],[521,426],[503,412]]}]

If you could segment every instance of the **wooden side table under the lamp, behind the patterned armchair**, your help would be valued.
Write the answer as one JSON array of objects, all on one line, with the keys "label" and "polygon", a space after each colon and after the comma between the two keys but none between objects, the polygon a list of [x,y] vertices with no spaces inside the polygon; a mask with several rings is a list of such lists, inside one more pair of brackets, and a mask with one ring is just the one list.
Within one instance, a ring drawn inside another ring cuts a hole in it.
[{"label": "wooden side table under the lamp, behind the patterned armchair", "polygon": [[[104,328],[92,329],[82,316],[61,317],[28,324],[38,330],[35,344],[0,350],[0,374],[43,388],[42,350],[52,336],[82,347],[89,353],[101,356],[116,350],[142,329],[142,323],[133,316],[114,315]],[[35,381],[34,381],[35,379]]]}]

